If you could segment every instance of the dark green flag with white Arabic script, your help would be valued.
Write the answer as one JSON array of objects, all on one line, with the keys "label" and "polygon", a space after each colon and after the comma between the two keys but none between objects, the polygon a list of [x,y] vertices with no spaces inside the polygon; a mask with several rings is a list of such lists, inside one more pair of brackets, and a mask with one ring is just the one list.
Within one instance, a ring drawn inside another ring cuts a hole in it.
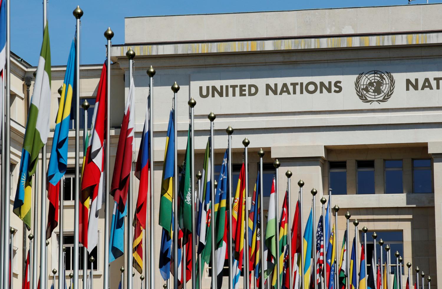
[{"label": "dark green flag with white Arabic script", "polygon": [[[179,182],[179,227],[192,232],[192,201],[191,201],[191,128],[187,131],[186,159],[184,160],[181,182]],[[184,176],[184,178],[183,178]]]}]

